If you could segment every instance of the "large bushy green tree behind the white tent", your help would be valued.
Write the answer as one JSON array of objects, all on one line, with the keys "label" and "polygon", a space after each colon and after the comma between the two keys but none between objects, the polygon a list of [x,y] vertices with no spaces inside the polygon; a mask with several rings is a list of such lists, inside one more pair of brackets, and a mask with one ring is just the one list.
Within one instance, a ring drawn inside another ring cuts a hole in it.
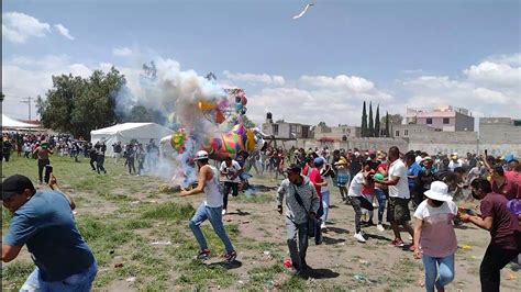
[{"label": "large bushy green tree behind the white tent", "polygon": [[96,70],[89,78],[53,76],[46,100],[36,100],[43,125],[86,138],[91,130],[113,125],[115,96],[125,82],[114,67],[107,74]]}]

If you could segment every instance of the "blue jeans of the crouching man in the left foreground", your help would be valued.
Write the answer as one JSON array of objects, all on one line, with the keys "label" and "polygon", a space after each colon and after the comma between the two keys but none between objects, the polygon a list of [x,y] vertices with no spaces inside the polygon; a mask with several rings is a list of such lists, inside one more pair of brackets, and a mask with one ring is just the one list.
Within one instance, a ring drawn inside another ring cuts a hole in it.
[{"label": "blue jeans of the crouching man in the left foreground", "polygon": [[89,292],[92,290],[92,282],[96,273],[98,273],[98,265],[92,263],[85,272],[73,274],[63,281],[46,282],[42,280],[40,269],[36,267],[34,271],[27,277],[20,291],[38,291],[38,292],[54,292],[54,291],[77,291]]}]

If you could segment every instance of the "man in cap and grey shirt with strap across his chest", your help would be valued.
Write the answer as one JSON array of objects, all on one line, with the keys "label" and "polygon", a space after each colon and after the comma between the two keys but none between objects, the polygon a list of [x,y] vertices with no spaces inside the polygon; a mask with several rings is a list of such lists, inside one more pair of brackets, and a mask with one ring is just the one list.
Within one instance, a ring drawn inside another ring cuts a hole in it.
[{"label": "man in cap and grey shirt with strap across his chest", "polygon": [[289,255],[293,273],[299,274],[308,269],[306,252],[308,250],[308,220],[315,218],[320,200],[314,186],[300,175],[300,167],[291,165],[286,170],[288,178],[282,180],[277,191],[277,211],[282,214],[286,199],[286,228]]}]

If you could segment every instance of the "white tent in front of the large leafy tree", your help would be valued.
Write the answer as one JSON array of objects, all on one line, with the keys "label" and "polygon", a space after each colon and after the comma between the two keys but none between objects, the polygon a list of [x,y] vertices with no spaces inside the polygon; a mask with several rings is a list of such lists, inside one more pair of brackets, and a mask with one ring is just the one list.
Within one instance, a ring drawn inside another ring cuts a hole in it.
[{"label": "white tent in front of the large leafy tree", "polygon": [[174,131],[155,123],[124,123],[91,131],[90,142],[96,144],[98,141],[104,139],[106,155],[112,156],[114,154],[112,144],[114,143],[121,142],[124,145],[136,139],[146,145],[151,139],[154,139],[157,145],[160,138],[173,133]]}]

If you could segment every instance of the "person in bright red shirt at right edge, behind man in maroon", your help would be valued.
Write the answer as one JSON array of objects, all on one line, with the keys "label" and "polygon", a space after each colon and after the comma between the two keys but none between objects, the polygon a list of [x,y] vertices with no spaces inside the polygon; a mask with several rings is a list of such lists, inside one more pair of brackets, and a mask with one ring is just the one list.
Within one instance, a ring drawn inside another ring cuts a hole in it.
[{"label": "person in bright red shirt at right edge, behind man in maroon", "polygon": [[492,168],[492,191],[508,200],[521,199],[521,176],[514,171],[505,171],[502,166]]}]

